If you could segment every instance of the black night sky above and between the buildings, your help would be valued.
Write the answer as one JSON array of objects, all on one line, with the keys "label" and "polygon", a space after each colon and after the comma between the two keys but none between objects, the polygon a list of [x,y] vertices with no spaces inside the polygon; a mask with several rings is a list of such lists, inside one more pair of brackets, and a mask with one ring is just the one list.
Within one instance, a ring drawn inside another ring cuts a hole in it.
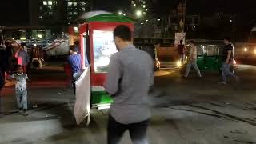
[{"label": "black night sky above and between the buildings", "polygon": [[[187,12],[190,14],[225,13],[256,14],[256,0],[187,0]],[[128,0],[93,0],[94,10],[118,11],[130,6]],[[168,14],[180,0],[150,0],[151,12],[155,16]],[[2,0],[0,5],[0,26],[26,25],[29,22],[28,0]]]}]

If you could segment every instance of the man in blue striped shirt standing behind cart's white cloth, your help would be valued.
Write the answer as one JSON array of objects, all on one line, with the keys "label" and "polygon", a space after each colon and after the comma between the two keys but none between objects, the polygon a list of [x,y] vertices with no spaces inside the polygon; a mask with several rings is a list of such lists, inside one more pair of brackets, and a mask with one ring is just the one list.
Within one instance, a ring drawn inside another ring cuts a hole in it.
[{"label": "man in blue striped shirt standing behind cart's white cloth", "polygon": [[[78,49],[75,46],[70,46],[70,55],[67,58],[67,61],[71,67],[71,75],[72,75],[72,83],[75,94],[75,81],[78,80],[80,75],[82,74],[82,62],[81,62],[81,54],[78,54]],[[88,62],[86,61],[88,65]]]}]

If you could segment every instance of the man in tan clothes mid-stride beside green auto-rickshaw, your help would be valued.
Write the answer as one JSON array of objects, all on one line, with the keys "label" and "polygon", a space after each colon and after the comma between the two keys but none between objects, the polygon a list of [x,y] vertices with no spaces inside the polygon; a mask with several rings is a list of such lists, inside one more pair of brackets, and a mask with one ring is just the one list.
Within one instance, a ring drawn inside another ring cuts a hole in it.
[{"label": "man in tan clothes mid-stride beside green auto-rickshaw", "polygon": [[194,67],[195,70],[197,70],[198,77],[202,77],[200,70],[198,69],[197,64],[197,58],[198,58],[198,50],[197,47],[194,45],[194,41],[190,41],[190,51],[189,51],[189,60],[186,65],[186,73],[184,75],[185,78],[190,74],[191,66]]}]

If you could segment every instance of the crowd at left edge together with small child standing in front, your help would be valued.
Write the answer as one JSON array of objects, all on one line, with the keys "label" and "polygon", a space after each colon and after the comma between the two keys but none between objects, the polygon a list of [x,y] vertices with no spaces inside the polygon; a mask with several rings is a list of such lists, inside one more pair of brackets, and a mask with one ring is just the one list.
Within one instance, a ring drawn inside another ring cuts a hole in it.
[{"label": "crowd at left edge together with small child standing in front", "polygon": [[28,49],[25,43],[12,46],[10,42],[0,45],[0,90],[6,80],[15,80],[15,95],[19,114],[27,116],[27,72],[30,67],[41,68],[43,59],[42,48],[34,46]]}]

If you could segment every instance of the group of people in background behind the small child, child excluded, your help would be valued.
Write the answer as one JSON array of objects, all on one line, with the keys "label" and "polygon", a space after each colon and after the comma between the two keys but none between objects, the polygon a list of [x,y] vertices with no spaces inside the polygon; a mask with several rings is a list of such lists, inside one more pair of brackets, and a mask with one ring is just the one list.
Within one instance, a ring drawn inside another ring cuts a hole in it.
[{"label": "group of people in background behind the small child, child excluded", "polygon": [[25,43],[12,45],[11,42],[2,41],[0,44],[0,69],[2,76],[12,74],[17,66],[22,66],[24,72],[32,68],[42,68],[44,52],[42,47],[28,48]]}]

